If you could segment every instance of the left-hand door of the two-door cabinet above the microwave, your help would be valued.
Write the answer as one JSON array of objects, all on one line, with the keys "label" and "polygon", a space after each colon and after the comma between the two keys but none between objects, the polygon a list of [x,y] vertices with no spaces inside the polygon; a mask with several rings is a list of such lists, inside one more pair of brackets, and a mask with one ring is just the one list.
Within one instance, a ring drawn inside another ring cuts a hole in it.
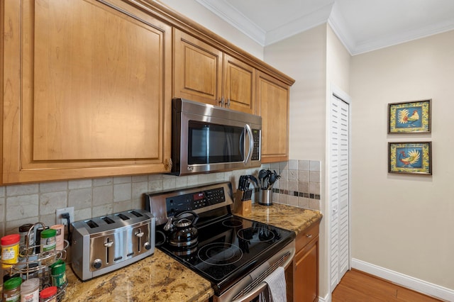
[{"label": "left-hand door of the two-door cabinet above the microwave", "polygon": [[218,106],[222,52],[175,29],[174,97]]}]

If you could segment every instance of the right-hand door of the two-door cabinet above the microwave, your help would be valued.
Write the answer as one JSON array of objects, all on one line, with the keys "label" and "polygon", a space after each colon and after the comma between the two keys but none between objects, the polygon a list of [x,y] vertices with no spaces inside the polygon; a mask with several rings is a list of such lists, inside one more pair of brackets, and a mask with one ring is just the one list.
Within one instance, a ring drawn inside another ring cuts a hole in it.
[{"label": "right-hand door of the two-door cabinet above the microwave", "polygon": [[224,55],[223,73],[223,98],[228,108],[255,114],[254,67]]}]

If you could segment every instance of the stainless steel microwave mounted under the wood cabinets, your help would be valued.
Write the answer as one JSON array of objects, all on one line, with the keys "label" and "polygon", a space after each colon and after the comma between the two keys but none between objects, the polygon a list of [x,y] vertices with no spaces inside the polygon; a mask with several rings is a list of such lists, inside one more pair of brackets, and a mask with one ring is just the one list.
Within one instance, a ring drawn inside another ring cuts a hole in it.
[{"label": "stainless steel microwave mounted under the wood cabinets", "polygon": [[260,167],[262,118],[172,100],[172,172],[190,175]]}]

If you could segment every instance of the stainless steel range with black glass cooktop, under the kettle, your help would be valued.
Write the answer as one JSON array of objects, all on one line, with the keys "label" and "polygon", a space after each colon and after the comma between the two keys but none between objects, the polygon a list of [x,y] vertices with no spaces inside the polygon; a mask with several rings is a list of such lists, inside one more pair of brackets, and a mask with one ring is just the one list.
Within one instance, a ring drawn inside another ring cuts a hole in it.
[{"label": "stainless steel range with black glass cooktop, under the kettle", "polygon": [[[156,218],[156,237],[162,237],[158,249],[209,280],[215,302],[257,301],[267,289],[264,279],[292,263],[295,233],[235,216],[232,204],[230,182],[145,194],[145,209]],[[196,216],[197,231],[190,237],[196,243],[172,246],[164,240],[172,237],[165,225],[188,211],[192,219]]]}]

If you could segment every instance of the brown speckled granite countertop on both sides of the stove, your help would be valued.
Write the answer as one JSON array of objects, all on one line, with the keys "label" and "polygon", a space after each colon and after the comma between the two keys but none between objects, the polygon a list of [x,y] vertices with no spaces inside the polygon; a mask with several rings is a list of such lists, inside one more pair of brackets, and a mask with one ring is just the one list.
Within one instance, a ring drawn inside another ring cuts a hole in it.
[{"label": "brown speckled granite countertop on both sides of the stove", "polygon": [[[240,216],[297,235],[322,218],[319,211],[279,203],[253,203],[252,212]],[[209,281],[157,249],[150,257],[89,281],[80,281],[68,267],[67,278],[64,301],[206,301],[214,295]]]}]

